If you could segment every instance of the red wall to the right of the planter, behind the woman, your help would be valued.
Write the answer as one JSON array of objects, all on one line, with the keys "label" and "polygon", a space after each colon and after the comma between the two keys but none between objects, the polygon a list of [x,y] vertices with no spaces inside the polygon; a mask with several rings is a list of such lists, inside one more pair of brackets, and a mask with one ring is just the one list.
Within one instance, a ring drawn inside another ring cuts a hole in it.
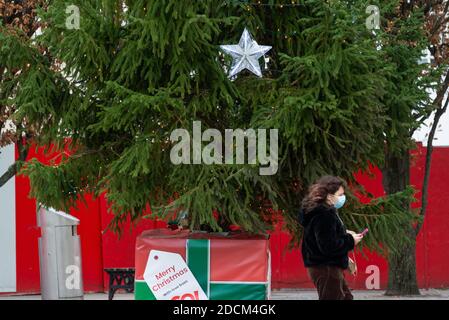
[{"label": "red wall to the right of the planter, behind the woman", "polygon": [[[425,148],[420,147],[412,156],[411,183],[417,190],[421,189],[424,175]],[[429,206],[426,219],[417,237],[416,257],[418,284],[421,288],[449,287],[449,148],[439,147],[434,150],[429,188]],[[382,187],[382,173],[377,168],[372,169],[375,177],[358,175],[357,179],[367,191],[375,196],[384,195]],[[421,199],[418,193],[417,199]],[[420,206],[418,201],[416,206]],[[285,247],[289,236],[278,231],[271,238],[273,287],[312,287],[306,271],[302,265],[299,250],[286,252]],[[380,269],[380,285],[384,289],[388,281],[388,264],[376,253],[365,251],[366,258],[356,255],[358,275],[347,276],[349,286],[353,289],[366,289],[365,282],[370,274],[366,267],[376,265]]]}]

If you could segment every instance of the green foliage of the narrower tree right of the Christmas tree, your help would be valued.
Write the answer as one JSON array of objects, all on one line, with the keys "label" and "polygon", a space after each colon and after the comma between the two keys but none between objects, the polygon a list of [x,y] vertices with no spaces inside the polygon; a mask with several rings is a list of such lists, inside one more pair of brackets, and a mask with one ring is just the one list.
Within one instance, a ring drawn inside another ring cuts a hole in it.
[{"label": "green foliage of the narrower tree right of the Christmas tree", "polygon": [[438,70],[418,62],[429,47],[424,8],[415,8],[404,18],[398,13],[399,4],[379,1],[384,27],[378,33],[381,52],[394,68],[388,77],[389,94],[383,98],[388,115],[385,138],[393,154],[408,153],[415,147],[412,135],[428,117],[429,92],[439,78]]}]

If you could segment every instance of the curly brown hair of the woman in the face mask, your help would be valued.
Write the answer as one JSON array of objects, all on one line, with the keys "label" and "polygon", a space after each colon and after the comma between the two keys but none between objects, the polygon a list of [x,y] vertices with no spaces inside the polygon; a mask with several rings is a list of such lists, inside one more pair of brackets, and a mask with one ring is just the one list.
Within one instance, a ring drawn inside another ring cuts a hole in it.
[{"label": "curly brown hair of the woman in the face mask", "polygon": [[318,205],[326,204],[329,194],[335,194],[340,187],[346,189],[346,182],[334,176],[324,176],[309,187],[307,195],[302,200],[302,208],[305,213],[310,212]]}]

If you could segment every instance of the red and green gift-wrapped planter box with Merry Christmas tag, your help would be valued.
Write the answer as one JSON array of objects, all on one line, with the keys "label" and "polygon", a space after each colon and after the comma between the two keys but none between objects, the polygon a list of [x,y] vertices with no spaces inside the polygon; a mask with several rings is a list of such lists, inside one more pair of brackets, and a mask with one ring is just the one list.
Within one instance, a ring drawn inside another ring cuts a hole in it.
[{"label": "red and green gift-wrapped planter box with Merry Christmas tag", "polygon": [[[153,251],[152,254],[150,254],[151,251]],[[161,257],[173,257],[176,261],[179,260],[180,264],[175,267],[174,263],[167,263],[166,265],[170,267],[167,267],[166,271],[161,271],[162,269],[158,269],[160,264],[157,263],[162,261],[157,260],[156,254]],[[179,254],[182,259],[175,254]],[[137,237],[135,257],[136,300],[157,300],[155,295],[164,289],[168,292],[166,296],[159,299],[201,299],[201,294],[198,292],[179,287],[187,283],[184,281],[185,277],[192,275],[201,287],[200,291],[202,289],[205,294],[203,299],[265,300],[270,298],[271,270],[267,237],[243,233],[223,235],[194,233],[188,230],[149,230]],[[176,271],[181,269],[178,267],[181,264],[185,268],[180,271],[181,273],[175,273],[174,269],[177,269]],[[149,276],[151,272],[153,273]],[[174,286],[175,289],[163,288],[166,284],[167,287]],[[160,288],[162,289],[157,291]]]}]

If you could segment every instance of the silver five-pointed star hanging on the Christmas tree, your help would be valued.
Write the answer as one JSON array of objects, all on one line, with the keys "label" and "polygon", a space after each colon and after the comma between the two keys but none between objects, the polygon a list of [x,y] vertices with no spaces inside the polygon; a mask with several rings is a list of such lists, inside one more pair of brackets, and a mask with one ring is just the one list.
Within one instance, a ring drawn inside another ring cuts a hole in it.
[{"label": "silver five-pointed star hanging on the Christmas tree", "polygon": [[232,66],[229,71],[230,78],[244,69],[262,77],[258,60],[270,51],[271,46],[259,46],[246,28],[238,45],[221,45],[220,48],[232,57]]}]

